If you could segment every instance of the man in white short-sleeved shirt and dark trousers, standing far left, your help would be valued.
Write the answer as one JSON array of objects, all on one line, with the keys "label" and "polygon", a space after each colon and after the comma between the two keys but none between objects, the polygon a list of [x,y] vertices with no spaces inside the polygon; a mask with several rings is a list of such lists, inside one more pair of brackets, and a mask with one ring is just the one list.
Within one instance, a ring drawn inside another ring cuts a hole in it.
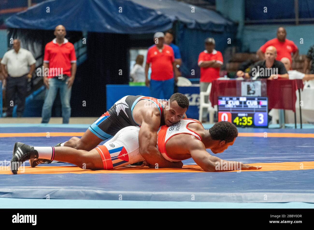
[{"label": "man in white short-sleeved shirt and dark trousers, standing far left", "polygon": [[[13,40],[13,49],[6,52],[1,60],[1,69],[6,84],[7,117],[12,117],[13,107],[17,102],[17,116],[21,117],[24,111],[25,98],[27,95],[27,80],[32,77],[36,60],[33,54],[21,48],[19,39]],[[30,66],[30,68],[29,68]],[[7,69],[5,68],[7,67]],[[14,100],[17,93],[17,100]]]}]

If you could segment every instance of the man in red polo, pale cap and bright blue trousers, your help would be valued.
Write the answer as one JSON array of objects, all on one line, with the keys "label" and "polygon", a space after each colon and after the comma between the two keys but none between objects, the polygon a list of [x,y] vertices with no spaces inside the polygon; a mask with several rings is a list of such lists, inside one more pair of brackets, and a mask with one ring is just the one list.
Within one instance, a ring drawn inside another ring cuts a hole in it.
[{"label": "man in red polo, pale cap and bright blue trousers", "polygon": [[[177,82],[178,71],[175,77],[175,56],[171,46],[164,43],[165,34],[157,32],[154,34],[155,45],[147,51],[145,77],[146,86],[150,85],[150,96],[160,99],[168,99],[174,93],[174,83]],[[151,63],[152,73],[148,79],[148,69]]]}]

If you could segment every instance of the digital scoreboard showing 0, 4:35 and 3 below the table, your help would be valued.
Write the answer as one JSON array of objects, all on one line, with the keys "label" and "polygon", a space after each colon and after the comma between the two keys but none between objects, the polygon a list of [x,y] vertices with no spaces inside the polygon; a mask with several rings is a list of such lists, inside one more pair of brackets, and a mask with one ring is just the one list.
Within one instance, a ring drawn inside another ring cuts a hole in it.
[{"label": "digital scoreboard showing 0, 4:35 and 3 below the table", "polygon": [[238,127],[268,127],[267,97],[218,97],[218,121]]}]

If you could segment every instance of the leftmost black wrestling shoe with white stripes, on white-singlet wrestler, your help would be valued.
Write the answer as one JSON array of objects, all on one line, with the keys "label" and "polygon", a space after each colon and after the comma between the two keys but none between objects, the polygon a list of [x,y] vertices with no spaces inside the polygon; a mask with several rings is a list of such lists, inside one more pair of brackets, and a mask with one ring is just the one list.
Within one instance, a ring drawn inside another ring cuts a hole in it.
[{"label": "leftmost black wrestling shoe with white stripes, on white-singlet wrestler", "polygon": [[21,166],[24,161],[34,158],[35,151],[33,146],[29,146],[21,142],[15,142],[10,162],[11,172],[13,174],[17,174],[19,166]]}]

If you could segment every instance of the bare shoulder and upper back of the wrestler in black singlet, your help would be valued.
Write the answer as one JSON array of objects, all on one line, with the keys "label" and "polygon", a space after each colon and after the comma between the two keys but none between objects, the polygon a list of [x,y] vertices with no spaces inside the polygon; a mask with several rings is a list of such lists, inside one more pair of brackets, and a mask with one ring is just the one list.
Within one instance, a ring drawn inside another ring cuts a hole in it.
[{"label": "bare shoulder and upper back of the wrestler in black singlet", "polygon": [[[149,106],[149,103],[147,103],[147,100],[140,100],[133,108],[132,111],[133,119],[136,123],[139,125],[142,125],[143,120],[149,121],[151,118],[159,118],[160,123],[160,111],[156,107]],[[156,119],[154,119],[156,120]]]}]

